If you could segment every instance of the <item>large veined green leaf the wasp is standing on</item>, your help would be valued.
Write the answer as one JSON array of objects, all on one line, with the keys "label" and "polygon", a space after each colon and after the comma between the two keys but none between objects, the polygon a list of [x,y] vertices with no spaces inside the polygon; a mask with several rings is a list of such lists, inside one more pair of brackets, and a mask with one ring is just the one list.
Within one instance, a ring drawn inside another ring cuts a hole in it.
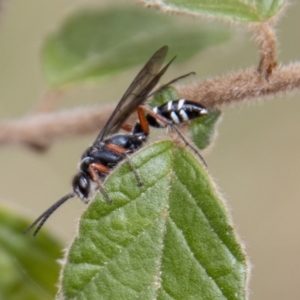
[{"label": "large veined green leaf the wasp is standing on", "polygon": [[247,262],[207,170],[172,141],[125,161],[83,214],[65,299],[245,299]]}]

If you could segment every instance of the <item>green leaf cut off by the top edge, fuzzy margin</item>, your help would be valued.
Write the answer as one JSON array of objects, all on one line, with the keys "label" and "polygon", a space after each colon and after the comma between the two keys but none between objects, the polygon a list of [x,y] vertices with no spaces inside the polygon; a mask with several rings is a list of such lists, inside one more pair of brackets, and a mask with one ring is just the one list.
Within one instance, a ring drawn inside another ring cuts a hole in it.
[{"label": "green leaf cut off by the top edge, fuzzy margin", "polygon": [[285,0],[140,0],[147,6],[170,12],[226,18],[240,22],[263,22],[283,8]]}]

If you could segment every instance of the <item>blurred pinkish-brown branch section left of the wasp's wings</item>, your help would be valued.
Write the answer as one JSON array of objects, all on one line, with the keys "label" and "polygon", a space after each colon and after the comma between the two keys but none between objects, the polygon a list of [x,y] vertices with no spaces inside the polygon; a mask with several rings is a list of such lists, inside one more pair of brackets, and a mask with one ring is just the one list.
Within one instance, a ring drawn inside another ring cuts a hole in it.
[{"label": "blurred pinkish-brown branch section left of the wasp's wings", "polygon": [[76,108],[44,112],[0,123],[0,145],[23,144],[34,150],[46,150],[55,140],[99,131],[112,107]]}]

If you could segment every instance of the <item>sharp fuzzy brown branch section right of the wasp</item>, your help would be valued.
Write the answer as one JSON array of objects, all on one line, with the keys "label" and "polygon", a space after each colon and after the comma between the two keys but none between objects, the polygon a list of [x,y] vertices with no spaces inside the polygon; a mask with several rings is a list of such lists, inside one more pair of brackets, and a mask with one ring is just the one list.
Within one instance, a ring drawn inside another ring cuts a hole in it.
[{"label": "sharp fuzzy brown branch section right of the wasp", "polygon": [[300,88],[300,63],[276,68],[266,81],[255,68],[182,86],[180,95],[208,108],[275,96]]}]

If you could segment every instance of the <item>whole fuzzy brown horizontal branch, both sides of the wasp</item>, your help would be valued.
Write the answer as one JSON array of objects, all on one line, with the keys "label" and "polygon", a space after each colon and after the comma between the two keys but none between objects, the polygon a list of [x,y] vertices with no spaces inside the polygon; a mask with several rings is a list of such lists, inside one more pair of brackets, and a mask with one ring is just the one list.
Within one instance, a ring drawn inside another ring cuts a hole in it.
[{"label": "whole fuzzy brown horizontal branch, both sides of the wasp", "polygon": [[[265,79],[255,68],[224,77],[178,86],[180,97],[207,108],[275,96],[300,87],[300,64],[275,68]],[[0,123],[0,145],[23,144],[45,150],[55,140],[99,131],[113,107],[97,106],[68,111],[37,113]]]}]

